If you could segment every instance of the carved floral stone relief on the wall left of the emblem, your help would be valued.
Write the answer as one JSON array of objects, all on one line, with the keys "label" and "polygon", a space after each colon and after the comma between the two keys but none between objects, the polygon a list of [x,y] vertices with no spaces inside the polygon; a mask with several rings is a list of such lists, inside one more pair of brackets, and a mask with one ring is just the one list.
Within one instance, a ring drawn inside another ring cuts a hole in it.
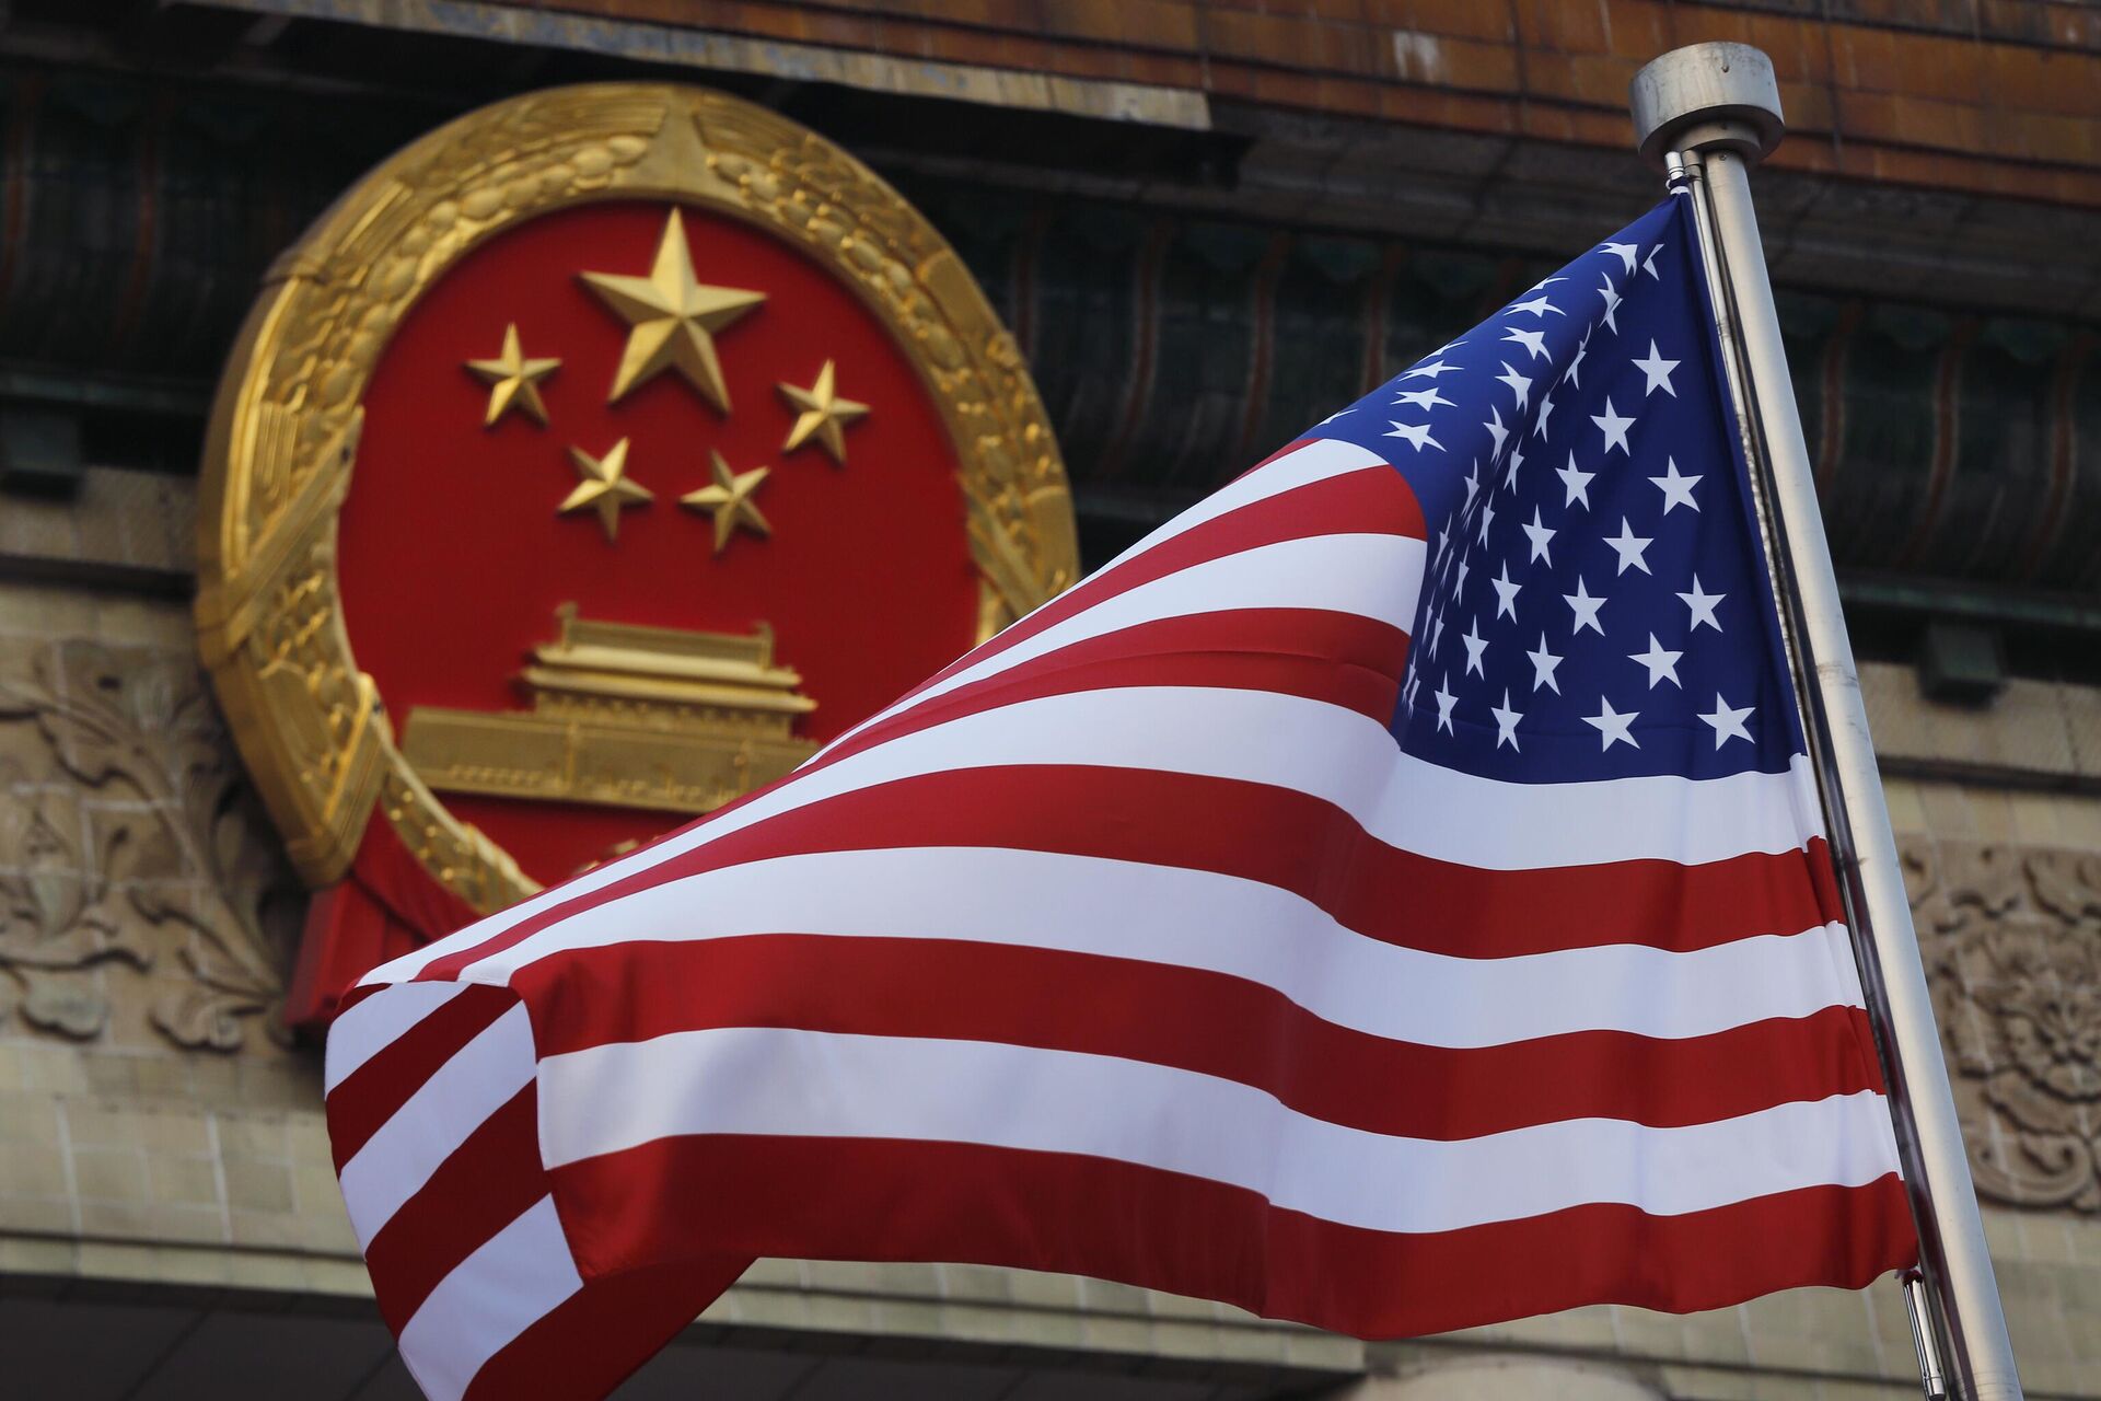
[{"label": "carved floral stone relief on the wall left of the emblem", "polygon": [[0,660],[0,1025],[187,1048],[282,1038],[305,897],[191,655]]}]

